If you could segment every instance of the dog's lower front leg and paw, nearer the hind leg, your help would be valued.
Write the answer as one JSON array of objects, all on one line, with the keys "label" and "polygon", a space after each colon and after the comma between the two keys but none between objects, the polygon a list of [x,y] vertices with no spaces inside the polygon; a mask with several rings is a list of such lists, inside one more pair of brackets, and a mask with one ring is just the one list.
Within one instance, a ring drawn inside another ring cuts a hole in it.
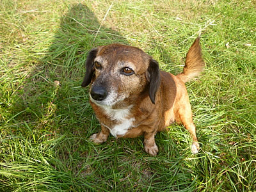
[{"label": "dog's lower front leg and paw, nearer the hind leg", "polygon": [[144,150],[151,156],[156,156],[158,147],[155,142],[156,131],[145,132],[144,134]]}]

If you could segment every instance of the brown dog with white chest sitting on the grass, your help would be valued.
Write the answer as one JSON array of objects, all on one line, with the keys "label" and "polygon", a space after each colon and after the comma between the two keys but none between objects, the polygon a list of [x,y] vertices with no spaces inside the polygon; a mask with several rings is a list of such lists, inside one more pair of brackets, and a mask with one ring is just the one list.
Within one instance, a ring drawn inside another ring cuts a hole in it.
[{"label": "brown dog with white chest sitting on the grass", "polygon": [[177,76],[160,71],[157,61],[136,47],[111,44],[92,49],[82,86],[92,82],[90,104],[101,131],[90,139],[103,143],[109,133],[116,138],[144,135],[145,151],[156,156],[156,133],[176,121],[190,132],[196,154],[199,144],[184,83],[204,70],[199,40],[190,47]]}]

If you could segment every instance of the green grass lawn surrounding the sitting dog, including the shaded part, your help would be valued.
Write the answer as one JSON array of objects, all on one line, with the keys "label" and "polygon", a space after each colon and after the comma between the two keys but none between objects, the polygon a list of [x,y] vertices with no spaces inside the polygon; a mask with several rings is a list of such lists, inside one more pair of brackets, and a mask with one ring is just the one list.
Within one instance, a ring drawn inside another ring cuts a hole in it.
[{"label": "green grass lawn surrounding the sitting dog, including the shaded part", "polygon": [[[255,7],[1,1],[0,191],[255,191]],[[177,124],[157,134],[156,157],[142,138],[93,145],[100,125],[81,88],[88,50],[134,45],[177,74],[200,31],[207,67],[187,84],[200,152]]]}]

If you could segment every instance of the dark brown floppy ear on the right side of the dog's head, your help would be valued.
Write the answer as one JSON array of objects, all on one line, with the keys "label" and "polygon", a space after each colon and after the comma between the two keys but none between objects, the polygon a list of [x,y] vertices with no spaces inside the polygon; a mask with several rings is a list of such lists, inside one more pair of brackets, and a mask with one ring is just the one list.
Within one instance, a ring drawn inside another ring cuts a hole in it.
[{"label": "dark brown floppy ear on the right side of the dog's head", "polygon": [[156,92],[161,82],[159,65],[156,60],[150,59],[146,77],[149,82],[149,98],[155,104]]}]

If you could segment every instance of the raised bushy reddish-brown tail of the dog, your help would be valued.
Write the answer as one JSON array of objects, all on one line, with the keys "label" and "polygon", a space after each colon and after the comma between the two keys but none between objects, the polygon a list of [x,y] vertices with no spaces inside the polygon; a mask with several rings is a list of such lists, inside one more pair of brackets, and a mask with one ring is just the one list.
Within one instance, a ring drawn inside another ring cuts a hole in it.
[{"label": "raised bushy reddish-brown tail of the dog", "polygon": [[190,81],[196,76],[199,76],[200,72],[204,70],[205,63],[202,58],[199,42],[200,36],[196,38],[195,42],[189,48],[183,72],[177,75],[177,77],[179,77],[184,83]]}]

